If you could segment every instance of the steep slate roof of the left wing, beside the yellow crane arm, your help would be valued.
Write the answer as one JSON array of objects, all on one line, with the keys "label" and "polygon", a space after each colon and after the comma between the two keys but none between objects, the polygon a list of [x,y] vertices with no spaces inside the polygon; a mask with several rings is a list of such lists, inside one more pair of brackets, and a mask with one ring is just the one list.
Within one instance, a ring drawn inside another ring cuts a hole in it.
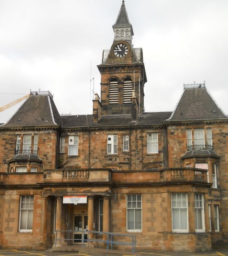
[{"label": "steep slate roof of the left wing, beside the yellow crane arm", "polygon": [[56,126],[61,121],[49,92],[34,92],[2,127]]}]

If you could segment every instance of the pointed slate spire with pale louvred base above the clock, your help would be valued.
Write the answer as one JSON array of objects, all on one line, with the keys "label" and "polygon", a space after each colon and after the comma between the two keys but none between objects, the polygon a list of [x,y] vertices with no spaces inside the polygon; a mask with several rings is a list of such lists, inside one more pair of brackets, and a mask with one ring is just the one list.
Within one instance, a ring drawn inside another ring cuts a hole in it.
[{"label": "pointed slate spire with pale louvred base above the clock", "polygon": [[114,41],[125,40],[131,41],[134,35],[132,25],[128,19],[125,1],[122,0],[121,9],[113,25]]}]

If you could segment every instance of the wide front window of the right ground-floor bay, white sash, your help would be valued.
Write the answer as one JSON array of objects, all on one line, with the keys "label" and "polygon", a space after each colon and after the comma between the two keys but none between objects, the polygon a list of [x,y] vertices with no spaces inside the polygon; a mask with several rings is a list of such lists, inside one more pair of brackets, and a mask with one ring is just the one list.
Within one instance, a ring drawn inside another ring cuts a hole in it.
[{"label": "wide front window of the right ground-floor bay, white sash", "polygon": [[[181,200],[177,198],[177,195],[181,195]],[[183,195],[185,195],[186,199],[183,199]],[[178,201],[181,201],[181,205],[178,206]],[[175,203],[174,203],[175,202]],[[187,193],[172,193],[171,194],[171,207],[172,207],[172,231],[173,232],[180,232],[180,233],[186,233],[188,232],[188,195]],[[179,210],[179,229],[174,229],[174,210]],[[186,223],[187,223],[187,229],[181,229],[181,212],[185,211],[186,214]]]}]

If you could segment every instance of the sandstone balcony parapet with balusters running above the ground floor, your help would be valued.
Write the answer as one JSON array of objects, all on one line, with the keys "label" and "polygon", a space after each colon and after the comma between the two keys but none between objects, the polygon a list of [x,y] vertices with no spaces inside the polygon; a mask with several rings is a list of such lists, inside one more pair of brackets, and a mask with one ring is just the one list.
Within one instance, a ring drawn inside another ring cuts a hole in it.
[{"label": "sandstone balcony parapet with balusters running above the ground floor", "polygon": [[207,170],[198,168],[165,168],[160,170],[112,171],[111,169],[44,170],[40,173],[0,173],[0,184],[37,183],[109,183],[161,184],[208,183]]}]

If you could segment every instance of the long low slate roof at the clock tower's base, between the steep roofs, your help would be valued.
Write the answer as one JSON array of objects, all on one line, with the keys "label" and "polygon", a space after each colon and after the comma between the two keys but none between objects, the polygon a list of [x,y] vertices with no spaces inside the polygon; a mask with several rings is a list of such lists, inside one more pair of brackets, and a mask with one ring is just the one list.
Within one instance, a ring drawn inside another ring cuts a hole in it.
[{"label": "long low slate roof at the clock tower's base, between the steep roofs", "polygon": [[93,115],[67,115],[61,116],[63,127],[101,127],[101,126],[128,126],[130,125],[156,125],[162,124],[172,112],[143,113],[137,122],[131,122],[131,115],[107,115],[101,116],[98,123],[93,123]]}]

